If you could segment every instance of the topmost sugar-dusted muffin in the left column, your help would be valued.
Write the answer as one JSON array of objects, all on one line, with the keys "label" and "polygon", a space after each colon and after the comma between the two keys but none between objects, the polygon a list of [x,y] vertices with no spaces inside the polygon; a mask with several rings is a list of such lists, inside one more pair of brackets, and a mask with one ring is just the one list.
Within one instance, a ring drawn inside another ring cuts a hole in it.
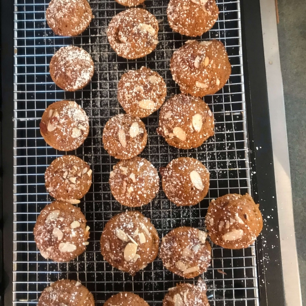
[{"label": "topmost sugar-dusted muffin in the left column", "polygon": [[46,21],[52,31],[61,36],[77,36],[84,32],[93,18],[87,0],[51,0]]}]

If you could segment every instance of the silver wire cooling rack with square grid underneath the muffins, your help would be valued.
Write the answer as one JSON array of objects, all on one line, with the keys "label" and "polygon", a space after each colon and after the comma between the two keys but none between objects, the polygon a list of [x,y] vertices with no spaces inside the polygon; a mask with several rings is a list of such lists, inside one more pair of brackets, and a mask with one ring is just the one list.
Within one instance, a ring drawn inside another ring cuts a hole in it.
[{"label": "silver wire cooling rack with square grid underneath the muffins", "polygon": [[[144,59],[125,60],[107,42],[106,29],[111,18],[124,8],[113,0],[90,1],[95,18],[90,27],[74,38],[55,36],[45,22],[48,1],[15,0],[15,77],[14,77],[14,293],[15,304],[37,303],[49,282],[60,278],[79,279],[102,305],[119,291],[133,291],[150,305],[162,305],[169,287],[184,281],[163,268],[159,259],[131,277],[113,269],[100,254],[99,239],[105,223],[124,211],[111,195],[109,172],[116,160],[103,148],[101,135],[107,120],[122,113],[118,105],[117,82],[127,69],[145,65],[159,72],[167,84],[168,97],[179,93],[169,71],[174,49],[188,39],[173,33],[167,23],[168,0],[146,0],[145,6],[159,20],[159,44]],[[250,192],[250,168],[244,103],[241,22],[239,1],[217,0],[220,10],[214,28],[204,39],[219,39],[226,46],[232,64],[229,82],[205,101],[215,116],[215,136],[197,149],[170,147],[157,135],[158,112],[143,121],[148,143],[141,156],[155,167],[172,159],[189,156],[202,161],[210,171],[210,190],[205,200],[191,208],[177,208],[160,191],[140,211],[151,218],[160,237],[181,225],[204,227],[209,201],[226,193]],[[87,50],[95,63],[91,83],[77,92],[63,92],[50,79],[51,57],[63,45],[74,44]],[[55,263],[41,257],[33,237],[33,227],[41,209],[52,198],[44,187],[46,167],[63,152],[48,146],[39,132],[44,109],[57,100],[73,99],[87,112],[90,132],[83,146],[70,152],[83,158],[93,169],[90,192],[80,203],[91,228],[85,253],[69,263]],[[257,259],[254,246],[244,250],[212,249],[207,279],[211,305],[258,305]],[[222,273],[220,273],[222,272]],[[223,273],[225,272],[225,273]]]}]

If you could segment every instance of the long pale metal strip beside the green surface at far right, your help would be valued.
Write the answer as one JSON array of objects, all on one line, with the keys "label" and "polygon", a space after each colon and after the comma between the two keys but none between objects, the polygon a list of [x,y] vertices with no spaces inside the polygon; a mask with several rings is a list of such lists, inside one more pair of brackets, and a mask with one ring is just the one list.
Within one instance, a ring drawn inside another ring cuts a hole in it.
[{"label": "long pale metal strip beside the green surface at far right", "polygon": [[274,0],[261,0],[268,99],[287,305],[301,306],[281,62]]}]

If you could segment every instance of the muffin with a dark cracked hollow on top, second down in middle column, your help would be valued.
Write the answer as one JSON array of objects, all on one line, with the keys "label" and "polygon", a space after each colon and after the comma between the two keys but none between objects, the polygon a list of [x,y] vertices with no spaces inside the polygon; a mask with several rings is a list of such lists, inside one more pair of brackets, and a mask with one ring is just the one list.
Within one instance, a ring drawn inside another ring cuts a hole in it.
[{"label": "muffin with a dark cracked hollow on top, second down in middle column", "polygon": [[138,59],[151,53],[158,44],[158,21],[144,9],[125,10],[113,17],[107,38],[117,55]]}]

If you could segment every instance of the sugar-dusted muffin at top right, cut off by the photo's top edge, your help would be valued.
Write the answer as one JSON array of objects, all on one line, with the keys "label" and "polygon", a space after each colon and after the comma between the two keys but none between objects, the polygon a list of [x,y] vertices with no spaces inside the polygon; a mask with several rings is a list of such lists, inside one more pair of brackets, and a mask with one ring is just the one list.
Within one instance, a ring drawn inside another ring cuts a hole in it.
[{"label": "sugar-dusted muffin at top right, cut off by the photo's top edge", "polygon": [[168,22],[174,32],[187,36],[201,36],[218,19],[216,0],[170,0]]}]

